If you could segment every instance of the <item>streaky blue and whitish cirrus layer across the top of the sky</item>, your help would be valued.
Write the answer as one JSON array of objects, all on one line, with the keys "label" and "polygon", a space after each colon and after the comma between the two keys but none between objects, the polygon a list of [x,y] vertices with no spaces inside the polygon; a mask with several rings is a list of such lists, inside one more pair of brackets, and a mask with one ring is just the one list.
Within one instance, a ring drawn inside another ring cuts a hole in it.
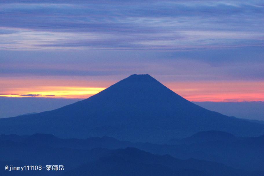
[{"label": "streaky blue and whitish cirrus layer across the top of the sky", "polygon": [[19,2],[1,3],[2,50],[193,49],[264,41],[259,1]]}]

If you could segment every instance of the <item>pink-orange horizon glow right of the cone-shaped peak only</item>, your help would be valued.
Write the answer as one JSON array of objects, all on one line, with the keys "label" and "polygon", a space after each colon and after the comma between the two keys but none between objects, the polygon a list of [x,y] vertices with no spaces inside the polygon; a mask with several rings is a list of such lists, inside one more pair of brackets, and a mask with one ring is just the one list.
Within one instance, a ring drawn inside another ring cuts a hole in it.
[{"label": "pink-orange horizon glow right of the cone-shaped peak only", "polygon": [[264,82],[177,82],[165,85],[195,102],[264,101]]}]

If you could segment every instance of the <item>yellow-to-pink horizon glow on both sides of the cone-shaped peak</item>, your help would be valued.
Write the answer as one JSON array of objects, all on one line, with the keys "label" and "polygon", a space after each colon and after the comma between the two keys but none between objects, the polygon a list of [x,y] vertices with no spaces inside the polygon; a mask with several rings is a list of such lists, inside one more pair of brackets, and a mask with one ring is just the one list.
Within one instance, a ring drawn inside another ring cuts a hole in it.
[{"label": "yellow-to-pink horizon glow on both sides of the cone-shaped peak", "polygon": [[[2,97],[45,97],[85,99],[114,84],[113,81],[30,79],[0,80]],[[162,81],[161,81],[162,82]],[[264,101],[264,82],[162,82],[189,101]],[[28,95],[28,96],[27,96]]]}]

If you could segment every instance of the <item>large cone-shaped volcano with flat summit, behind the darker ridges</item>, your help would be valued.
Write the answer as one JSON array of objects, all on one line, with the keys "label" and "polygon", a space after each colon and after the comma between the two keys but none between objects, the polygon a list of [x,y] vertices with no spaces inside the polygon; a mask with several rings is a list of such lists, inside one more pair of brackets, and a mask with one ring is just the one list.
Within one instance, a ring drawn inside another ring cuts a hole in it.
[{"label": "large cone-shaped volcano with flat summit, behind the darker ridges", "polygon": [[148,74],[131,75],[90,98],[42,113],[0,119],[0,134],[52,133],[62,138],[110,136],[161,142],[199,131],[258,136],[264,125],[209,111]]}]

